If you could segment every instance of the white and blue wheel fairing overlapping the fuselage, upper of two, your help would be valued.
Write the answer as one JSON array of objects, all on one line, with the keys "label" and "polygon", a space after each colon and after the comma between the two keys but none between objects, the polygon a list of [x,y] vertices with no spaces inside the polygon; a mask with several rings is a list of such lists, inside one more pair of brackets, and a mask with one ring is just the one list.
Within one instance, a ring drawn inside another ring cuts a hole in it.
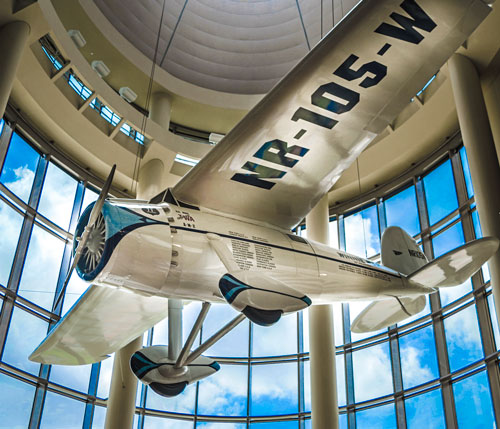
[{"label": "white and blue wheel fairing overlapping the fuselage, upper of two", "polygon": [[224,274],[219,289],[234,309],[261,326],[273,325],[283,314],[311,305],[307,296],[263,273],[239,271]]}]

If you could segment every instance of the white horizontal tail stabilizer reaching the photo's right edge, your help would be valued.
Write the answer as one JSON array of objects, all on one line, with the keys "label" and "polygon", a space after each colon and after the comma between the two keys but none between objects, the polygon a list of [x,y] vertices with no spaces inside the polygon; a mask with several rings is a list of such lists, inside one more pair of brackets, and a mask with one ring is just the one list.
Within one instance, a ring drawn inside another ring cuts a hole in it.
[{"label": "white horizontal tail stabilizer reaching the photo's right edge", "polygon": [[434,259],[408,280],[429,288],[457,286],[474,275],[498,250],[499,240],[481,238]]}]

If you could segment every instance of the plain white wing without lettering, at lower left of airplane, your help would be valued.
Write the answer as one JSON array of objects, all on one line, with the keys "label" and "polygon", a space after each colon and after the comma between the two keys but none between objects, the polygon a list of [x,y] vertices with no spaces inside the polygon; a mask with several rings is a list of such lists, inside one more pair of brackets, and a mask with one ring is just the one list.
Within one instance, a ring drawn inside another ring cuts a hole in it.
[{"label": "plain white wing without lettering, at lower left of airplane", "polygon": [[167,316],[166,298],[91,285],[29,357],[34,362],[99,362]]}]

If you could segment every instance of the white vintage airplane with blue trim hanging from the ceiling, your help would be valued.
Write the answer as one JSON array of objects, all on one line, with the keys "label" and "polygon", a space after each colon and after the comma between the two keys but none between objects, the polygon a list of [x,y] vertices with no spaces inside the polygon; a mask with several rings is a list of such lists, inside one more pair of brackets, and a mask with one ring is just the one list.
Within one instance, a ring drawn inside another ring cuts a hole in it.
[{"label": "white vintage airplane with blue trim hanging from the ceiling", "polygon": [[[379,265],[291,231],[490,10],[482,0],[362,1],[173,188],[150,201],[107,198],[113,166],[78,221],[55,307],[74,269],[91,286],[30,359],[99,362],[167,317],[169,300],[202,301],[183,345],[172,326],[170,347],[130,361],[139,380],[175,396],[220,368],[203,353],[245,318],[270,326],[310,305],[369,299],[351,326],[369,332],[467,280],[497,238],[429,262],[392,226]],[[212,303],[239,314],[192,350]]]}]

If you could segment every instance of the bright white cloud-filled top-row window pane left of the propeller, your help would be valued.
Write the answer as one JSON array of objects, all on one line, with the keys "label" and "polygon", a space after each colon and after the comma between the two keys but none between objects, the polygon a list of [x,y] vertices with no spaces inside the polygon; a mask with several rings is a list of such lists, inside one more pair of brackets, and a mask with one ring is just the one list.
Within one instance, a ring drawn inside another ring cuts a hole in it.
[{"label": "bright white cloud-filled top-row window pane left of the propeller", "polygon": [[69,228],[71,210],[78,182],[69,174],[49,164],[38,211],[63,229]]}]

